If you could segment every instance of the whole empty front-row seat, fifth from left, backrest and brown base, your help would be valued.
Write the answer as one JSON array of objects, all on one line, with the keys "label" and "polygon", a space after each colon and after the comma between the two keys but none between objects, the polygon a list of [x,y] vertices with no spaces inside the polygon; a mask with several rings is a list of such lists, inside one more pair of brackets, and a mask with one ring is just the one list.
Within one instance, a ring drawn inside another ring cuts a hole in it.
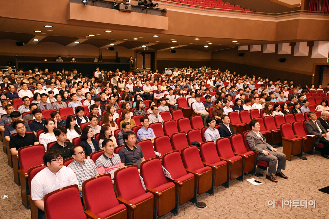
[{"label": "whole empty front-row seat, fifth from left, backrest and brown base", "polygon": [[191,199],[193,203],[196,203],[195,177],[185,170],[179,152],[173,151],[163,155],[162,162],[163,167],[170,173],[172,179],[168,180],[176,185],[176,190],[179,194],[179,204],[184,204]]}]

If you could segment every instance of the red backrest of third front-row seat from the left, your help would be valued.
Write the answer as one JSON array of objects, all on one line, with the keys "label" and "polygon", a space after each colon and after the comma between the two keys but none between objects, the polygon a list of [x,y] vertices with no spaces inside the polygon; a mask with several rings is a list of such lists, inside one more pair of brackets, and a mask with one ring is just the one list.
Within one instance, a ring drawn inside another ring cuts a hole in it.
[{"label": "red backrest of third front-row seat from the left", "polygon": [[131,200],[146,193],[141,185],[138,168],[136,166],[129,166],[116,173],[115,184],[116,192],[119,197],[125,200]]}]

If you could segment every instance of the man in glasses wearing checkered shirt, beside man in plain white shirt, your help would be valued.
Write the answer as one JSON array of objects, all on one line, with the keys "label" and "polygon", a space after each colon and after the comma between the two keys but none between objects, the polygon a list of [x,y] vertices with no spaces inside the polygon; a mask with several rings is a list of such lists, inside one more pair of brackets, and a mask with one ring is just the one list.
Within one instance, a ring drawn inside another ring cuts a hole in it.
[{"label": "man in glasses wearing checkered shirt, beside man in plain white shirt", "polygon": [[[94,162],[91,159],[85,158],[85,151],[81,146],[74,145],[70,152],[74,160],[67,167],[73,170],[79,181],[79,187],[82,188],[82,183],[85,180],[97,176],[98,171]],[[82,192],[80,192],[80,197],[82,200]]]}]

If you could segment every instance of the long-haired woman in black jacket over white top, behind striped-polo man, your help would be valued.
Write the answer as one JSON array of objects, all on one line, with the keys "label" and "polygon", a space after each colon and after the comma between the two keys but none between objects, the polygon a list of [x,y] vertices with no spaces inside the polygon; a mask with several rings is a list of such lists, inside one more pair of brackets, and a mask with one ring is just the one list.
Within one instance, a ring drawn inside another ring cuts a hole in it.
[{"label": "long-haired woman in black jacket over white top, behind striped-polo man", "polygon": [[94,139],[93,131],[90,126],[85,126],[81,134],[80,146],[85,151],[85,155],[90,156],[91,153],[99,151],[100,147],[98,142]]}]

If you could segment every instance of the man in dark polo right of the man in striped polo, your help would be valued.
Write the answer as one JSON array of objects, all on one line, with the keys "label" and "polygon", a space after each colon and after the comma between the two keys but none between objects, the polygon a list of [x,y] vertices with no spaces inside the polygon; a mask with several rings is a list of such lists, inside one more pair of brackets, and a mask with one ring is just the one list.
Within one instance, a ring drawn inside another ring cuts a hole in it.
[{"label": "man in dark polo right of the man in striped polo", "polygon": [[141,147],[136,144],[135,132],[125,132],[123,134],[123,140],[127,144],[119,151],[123,167],[138,165],[138,171],[140,171],[140,163],[145,161],[145,158]]}]

